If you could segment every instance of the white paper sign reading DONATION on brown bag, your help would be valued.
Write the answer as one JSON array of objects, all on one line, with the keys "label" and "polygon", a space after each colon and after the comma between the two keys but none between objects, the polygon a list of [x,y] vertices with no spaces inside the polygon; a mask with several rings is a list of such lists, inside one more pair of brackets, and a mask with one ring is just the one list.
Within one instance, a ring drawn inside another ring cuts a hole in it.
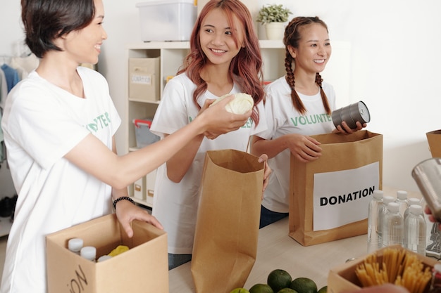
[{"label": "white paper sign reading DONATION on brown bag", "polygon": [[314,174],[313,230],[333,229],[366,219],[373,190],[379,188],[378,170],[375,162],[351,170]]}]

